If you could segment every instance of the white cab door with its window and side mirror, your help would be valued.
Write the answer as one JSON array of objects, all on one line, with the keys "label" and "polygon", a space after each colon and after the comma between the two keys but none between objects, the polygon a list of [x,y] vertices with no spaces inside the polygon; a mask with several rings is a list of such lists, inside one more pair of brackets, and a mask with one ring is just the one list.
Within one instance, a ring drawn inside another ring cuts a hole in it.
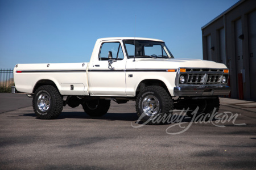
[{"label": "white cab door with its window and side mirror", "polygon": [[126,96],[126,58],[120,41],[102,42],[98,59],[88,72],[90,94]]}]

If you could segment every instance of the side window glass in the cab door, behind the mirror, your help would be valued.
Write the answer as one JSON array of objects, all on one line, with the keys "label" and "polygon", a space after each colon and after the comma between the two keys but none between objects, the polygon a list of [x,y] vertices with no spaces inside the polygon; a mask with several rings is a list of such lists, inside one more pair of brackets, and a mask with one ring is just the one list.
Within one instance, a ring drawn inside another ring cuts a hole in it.
[{"label": "side window glass in the cab door, behind the mirror", "polygon": [[113,59],[122,60],[124,56],[121,44],[119,42],[103,43],[101,45],[101,52],[98,56],[98,60],[104,61],[110,59],[109,54],[112,54]]}]

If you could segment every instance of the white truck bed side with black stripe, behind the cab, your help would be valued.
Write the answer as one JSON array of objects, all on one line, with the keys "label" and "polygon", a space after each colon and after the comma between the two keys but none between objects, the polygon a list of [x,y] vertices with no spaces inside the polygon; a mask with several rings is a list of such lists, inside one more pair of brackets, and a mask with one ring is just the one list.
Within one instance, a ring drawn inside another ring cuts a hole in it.
[{"label": "white truck bed side with black stripe, behind the cab", "polygon": [[55,83],[61,95],[89,95],[88,63],[18,64],[14,68],[17,91],[33,93],[35,84]]}]

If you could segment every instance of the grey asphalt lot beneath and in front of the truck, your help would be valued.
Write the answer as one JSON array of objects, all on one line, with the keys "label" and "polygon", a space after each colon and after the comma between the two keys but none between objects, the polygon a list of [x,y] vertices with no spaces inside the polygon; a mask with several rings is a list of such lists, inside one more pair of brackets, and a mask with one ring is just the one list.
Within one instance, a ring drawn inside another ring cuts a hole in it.
[{"label": "grey asphalt lot beneath and in front of the truck", "polygon": [[112,102],[99,118],[64,107],[56,120],[39,120],[25,102],[0,114],[0,169],[255,169],[256,112],[221,100],[219,113],[236,120],[141,128],[134,101]]}]

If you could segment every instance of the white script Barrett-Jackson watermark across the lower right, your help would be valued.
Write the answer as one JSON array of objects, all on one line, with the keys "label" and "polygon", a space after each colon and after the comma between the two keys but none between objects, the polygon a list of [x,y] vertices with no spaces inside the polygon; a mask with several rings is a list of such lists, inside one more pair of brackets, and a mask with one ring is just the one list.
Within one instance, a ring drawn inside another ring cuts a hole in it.
[{"label": "white script Barrett-Jackson watermark across the lower right", "polygon": [[[189,108],[188,108],[189,109]],[[141,128],[142,126],[148,124],[148,122],[152,122],[152,124],[171,124],[171,126],[169,126],[166,129],[166,133],[167,134],[171,134],[171,135],[177,135],[177,134],[181,134],[184,133],[185,131],[187,131],[192,124],[213,124],[214,126],[220,127],[220,128],[224,128],[226,127],[224,124],[226,122],[232,122],[233,125],[237,125],[237,126],[243,126],[246,125],[245,123],[243,124],[236,124],[236,119],[239,116],[238,113],[233,114],[232,112],[224,112],[224,113],[218,113],[216,112],[216,108],[213,110],[212,113],[201,113],[201,114],[197,114],[199,107],[197,107],[195,109],[195,111],[193,111],[191,114],[193,117],[191,117],[191,121],[190,122],[184,122],[184,118],[186,117],[186,113],[188,112],[188,109],[185,110],[181,110],[180,113],[174,113],[174,114],[159,114],[159,116],[155,116],[152,119],[148,119],[146,122],[143,122],[143,124],[138,124],[138,122],[141,121],[141,119],[146,116],[146,114],[142,114],[138,120],[137,120],[137,124],[133,125],[133,123],[131,123],[131,126],[133,126],[133,128]],[[170,133],[168,132],[168,130],[170,130],[171,128],[174,128],[175,126],[179,126],[181,128],[180,131],[175,132],[175,133]]]}]

